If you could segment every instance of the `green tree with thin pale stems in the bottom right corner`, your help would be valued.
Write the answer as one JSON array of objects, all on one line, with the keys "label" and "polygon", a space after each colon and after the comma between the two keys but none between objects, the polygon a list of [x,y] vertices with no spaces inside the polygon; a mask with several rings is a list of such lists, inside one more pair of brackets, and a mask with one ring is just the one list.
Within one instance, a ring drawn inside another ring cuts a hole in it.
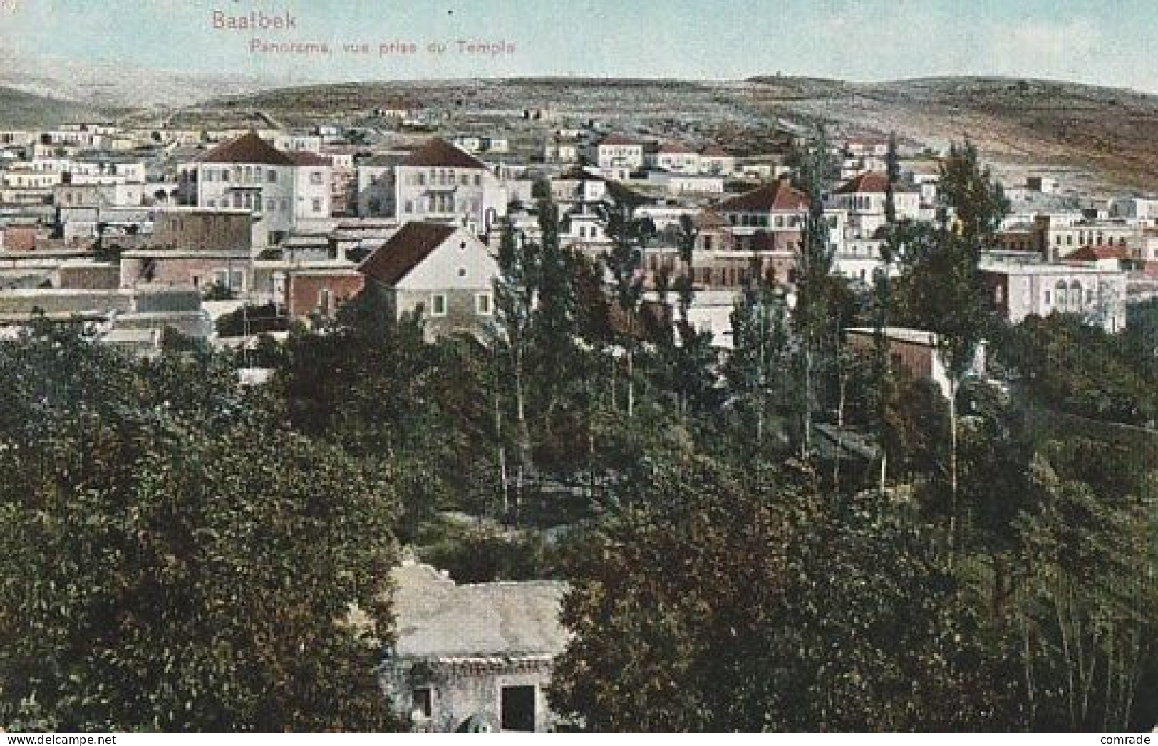
[{"label": "green tree with thin pale stems in the bottom right corner", "polygon": [[1013,597],[1033,726],[1137,731],[1158,717],[1143,682],[1158,672],[1153,517],[1107,506],[1034,463],[1040,504],[1018,521],[1026,578]]}]

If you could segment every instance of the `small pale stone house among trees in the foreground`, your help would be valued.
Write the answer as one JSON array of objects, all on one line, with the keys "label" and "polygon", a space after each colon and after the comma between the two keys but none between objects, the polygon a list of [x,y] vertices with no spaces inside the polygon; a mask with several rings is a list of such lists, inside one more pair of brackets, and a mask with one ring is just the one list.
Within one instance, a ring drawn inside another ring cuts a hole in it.
[{"label": "small pale stone house among trees in the foreground", "polygon": [[456,585],[430,565],[393,572],[397,641],[381,683],[423,732],[545,732],[545,688],[567,642],[558,582]]}]

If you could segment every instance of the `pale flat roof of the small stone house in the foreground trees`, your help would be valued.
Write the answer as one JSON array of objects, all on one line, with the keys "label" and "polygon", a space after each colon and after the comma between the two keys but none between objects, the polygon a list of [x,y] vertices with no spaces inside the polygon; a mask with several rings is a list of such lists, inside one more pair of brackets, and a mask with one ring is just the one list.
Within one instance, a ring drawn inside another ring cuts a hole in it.
[{"label": "pale flat roof of the small stone house in the foreground trees", "polygon": [[554,580],[457,585],[426,564],[391,571],[397,656],[557,654],[566,585]]}]

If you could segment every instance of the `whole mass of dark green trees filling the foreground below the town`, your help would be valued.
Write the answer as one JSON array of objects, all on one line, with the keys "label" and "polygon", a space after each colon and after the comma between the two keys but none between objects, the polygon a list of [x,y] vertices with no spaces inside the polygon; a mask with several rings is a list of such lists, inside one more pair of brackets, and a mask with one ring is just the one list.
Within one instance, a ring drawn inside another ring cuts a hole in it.
[{"label": "whole mass of dark green trees filling the foreground below the town", "polygon": [[[482,339],[365,294],[264,341],[262,390],[249,358],[0,344],[0,721],[389,725],[346,619],[389,635],[397,536],[462,582],[567,579],[549,696],[592,730],[1151,727],[1158,324],[1003,328],[976,262],[1004,198],[969,146],[943,178],[937,222],[891,214],[893,281],[831,278],[809,214],[800,286],[754,272],[726,352],[680,271],[673,329],[648,322],[653,226],[609,207],[600,265],[544,192]],[[906,323],[950,396],[843,335]],[[1007,385],[968,374],[983,339]]]}]

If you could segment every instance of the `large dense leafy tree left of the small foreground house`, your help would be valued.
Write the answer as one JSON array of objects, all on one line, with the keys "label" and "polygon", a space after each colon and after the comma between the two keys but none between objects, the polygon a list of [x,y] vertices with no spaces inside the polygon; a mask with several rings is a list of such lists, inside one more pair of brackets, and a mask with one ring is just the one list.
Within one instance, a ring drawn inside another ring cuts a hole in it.
[{"label": "large dense leafy tree left of the small foreground house", "polygon": [[388,474],[286,432],[215,358],[134,363],[72,338],[0,360],[38,415],[0,429],[0,724],[390,725],[374,673]]}]

